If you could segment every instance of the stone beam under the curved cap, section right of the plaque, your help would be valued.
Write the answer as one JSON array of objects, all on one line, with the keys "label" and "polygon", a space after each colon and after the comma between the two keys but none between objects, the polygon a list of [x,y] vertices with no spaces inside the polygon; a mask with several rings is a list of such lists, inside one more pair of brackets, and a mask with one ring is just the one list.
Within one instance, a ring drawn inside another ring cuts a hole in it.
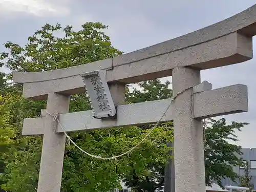
[{"label": "stone beam under the curved cap, section right of the plaque", "polygon": [[248,46],[248,41],[252,45],[251,37],[231,33],[195,46],[116,66],[108,71],[107,80],[132,83],[169,76],[170,70],[179,66],[210,69],[243,62],[252,58],[252,46]]}]

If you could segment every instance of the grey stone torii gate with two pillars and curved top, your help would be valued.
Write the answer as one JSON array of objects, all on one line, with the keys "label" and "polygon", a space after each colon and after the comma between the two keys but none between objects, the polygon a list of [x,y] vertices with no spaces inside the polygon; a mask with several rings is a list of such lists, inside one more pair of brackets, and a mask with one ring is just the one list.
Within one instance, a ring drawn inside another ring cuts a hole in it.
[{"label": "grey stone torii gate with two pillars and curved top", "polygon": [[[200,71],[251,59],[254,35],[256,5],[217,24],[115,58],[46,72],[13,72],[13,78],[24,83],[25,98],[47,99],[47,112],[60,113],[59,122],[73,132],[157,122],[170,99],[124,104],[124,86],[172,75],[174,95],[187,89],[162,119],[174,120],[176,191],[203,192],[202,119],[246,112],[248,97],[242,84],[200,90]],[[68,113],[70,95],[85,91],[81,74],[98,70],[105,72],[116,118],[97,119],[92,111]],[[37,191],[59,192],[66,138],[60,125],[42,110],[42,118],[24,119],[23,135],[44,135]]]}]

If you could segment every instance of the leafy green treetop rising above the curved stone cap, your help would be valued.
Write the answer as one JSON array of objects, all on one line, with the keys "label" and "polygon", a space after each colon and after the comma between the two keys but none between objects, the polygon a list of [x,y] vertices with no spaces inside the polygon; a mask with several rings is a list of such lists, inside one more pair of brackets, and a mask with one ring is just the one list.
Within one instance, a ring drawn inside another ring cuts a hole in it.
[{"label": "leafy green treetop rising above the curved stone cap", "polygon": [[[102,30],[101,23],[86,23],[78,32],[71,26],[63,28],[63,37],[54,34],[62,27],[46,24],[28,37],[23,48],[8,41],[1,59],[8,58],[5,66],[15,71],[36,72],[78,66],[120,55],[122,52],[111,46],[110,38]],[[2,65],[4,63],[2,62]]]}]

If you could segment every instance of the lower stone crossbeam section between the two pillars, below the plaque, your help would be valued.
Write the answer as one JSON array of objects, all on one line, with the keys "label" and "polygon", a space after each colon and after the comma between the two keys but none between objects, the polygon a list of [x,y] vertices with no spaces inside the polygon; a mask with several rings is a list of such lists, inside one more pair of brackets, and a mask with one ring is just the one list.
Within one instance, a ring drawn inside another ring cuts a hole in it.
[{"label": "lower stone crossbeam section between the two pillars, below the plaque", "polygon": [[[116,100],[116,102],[118,101]],[[92,111],[61,114],[59,119],[61,124],[66,126],[66,131],[68,132],[155,123],[161,118],[169,103],[169,99],[164,99],[162,102],[148,101],[118,105],[116,120],[95,119],[92,116]],[[172,108],[169,109],[168,115],[163,118],[163,121],[165,120],[173,120]],[[74,124],[74,122],[76,122],[76,124]],[[62,132],[60,127],[58,127],[58,132]]]}]

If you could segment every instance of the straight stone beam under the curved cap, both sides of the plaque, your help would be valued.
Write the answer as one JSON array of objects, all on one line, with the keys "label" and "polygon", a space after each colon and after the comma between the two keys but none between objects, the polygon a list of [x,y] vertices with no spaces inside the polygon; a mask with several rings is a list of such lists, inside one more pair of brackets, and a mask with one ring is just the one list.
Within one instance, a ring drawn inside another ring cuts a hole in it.
[{"label": "straight stone beam under the curved cap, both sides of the plaque", "polygon": [[[243,62],[250,58],[252,58],[252,38],[244,37],[236,32],[193,47],[116,66],[113,70],[106,71],[106,81],[139,82],[170,76],[172,70],[179,66],[209,69]],[[47,73],[40,72],[40,75],[48,77]],[[23,75],[23,78],[27,76],[26,78],[29,80],[31,74],[31,79],[34,79],[33,73],[14,72],[15,79]],[[73,74],[73,70],[71,70],[71,74]],[[47,93],[53,91],[67,95],[84,92],[82,79],[80,75],[75,75],[55,80],[28,82],[24,84],[23,94],[26,98],[44,99]]]}]

